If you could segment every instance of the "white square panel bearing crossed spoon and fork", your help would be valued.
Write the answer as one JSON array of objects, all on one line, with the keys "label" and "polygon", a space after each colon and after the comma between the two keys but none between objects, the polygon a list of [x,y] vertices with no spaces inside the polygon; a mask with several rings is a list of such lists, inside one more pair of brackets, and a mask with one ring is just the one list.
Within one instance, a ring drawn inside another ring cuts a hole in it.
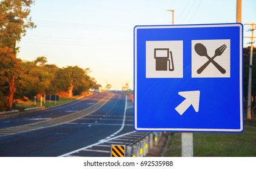
[{"label": "white square panel bearing crossed spoon and fork", "polygon": [[230,39],[192,40],[192,77],[230,77]]}]

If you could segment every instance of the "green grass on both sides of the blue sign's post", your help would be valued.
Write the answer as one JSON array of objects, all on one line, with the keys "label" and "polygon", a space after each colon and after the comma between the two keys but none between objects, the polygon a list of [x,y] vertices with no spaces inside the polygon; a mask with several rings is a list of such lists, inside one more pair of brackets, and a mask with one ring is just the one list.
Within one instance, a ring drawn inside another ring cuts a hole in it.
[{"label": "green grass on both sides of the blue sign's post", "polygon": [[[194,132],[195,157],[255,157],[256,123],[245,121],[242,133]],[[181,156],[181,132],[170,133],[164,156]]]}]

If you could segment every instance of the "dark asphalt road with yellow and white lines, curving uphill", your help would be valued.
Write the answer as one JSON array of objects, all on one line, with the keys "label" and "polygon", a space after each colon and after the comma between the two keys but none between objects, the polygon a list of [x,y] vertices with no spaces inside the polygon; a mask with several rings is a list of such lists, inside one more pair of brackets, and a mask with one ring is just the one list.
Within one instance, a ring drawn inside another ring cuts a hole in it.
[{"label": "dark asphalt road with yellow and white lines, curving uphill", "polygon": [[[0,156],[69,155],[127,133],[134,135],[132,108],[126,94],[104,92],[29,115],[1,118]],[[87,151],[86,156],[109,156],[109,148],[97,152],[101,153]]]}]

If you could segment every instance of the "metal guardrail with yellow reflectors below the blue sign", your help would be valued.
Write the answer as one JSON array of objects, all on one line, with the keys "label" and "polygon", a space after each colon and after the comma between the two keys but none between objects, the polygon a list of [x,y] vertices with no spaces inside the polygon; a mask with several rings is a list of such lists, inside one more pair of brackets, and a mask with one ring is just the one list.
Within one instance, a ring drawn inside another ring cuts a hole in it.
[{"label": "metal guardrail with yellow reflectors below the blue sign", "polygon": [[126,147],[126,157],[143,157],[149,153],[153,145],[157,145],[162,132],[150,132],[138,141]]}]

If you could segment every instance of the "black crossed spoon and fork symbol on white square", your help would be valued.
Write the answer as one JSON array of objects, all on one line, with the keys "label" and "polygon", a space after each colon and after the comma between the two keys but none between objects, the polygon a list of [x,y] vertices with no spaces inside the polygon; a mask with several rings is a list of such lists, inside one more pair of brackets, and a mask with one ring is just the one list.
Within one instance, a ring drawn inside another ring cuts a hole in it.
[{"label": "black crossed spoon and fork symbol on white square", "polygon": [[221,45],[219,48],[217,48],[215,50],[215,54],[213,57],[209,57],[207,54],[207,49],[206,46],[204,46],[202,43],[197,43],[195,44],[195,52],[199,55],[199,56],[205,56],[207,57],[208,61],[206,63],[204,63],[203,66],[201,66],[198,70],[197,73],[201,74],[201,72],[203,72],[203,70],[210,64],[212,63],[222,74],[226,73],[226,70],[221,67],[217,62],[215,62],[215,57],[217,56],[221,56],[221,54],[223,54],[224,50],[227,48],[227,46]]}]

